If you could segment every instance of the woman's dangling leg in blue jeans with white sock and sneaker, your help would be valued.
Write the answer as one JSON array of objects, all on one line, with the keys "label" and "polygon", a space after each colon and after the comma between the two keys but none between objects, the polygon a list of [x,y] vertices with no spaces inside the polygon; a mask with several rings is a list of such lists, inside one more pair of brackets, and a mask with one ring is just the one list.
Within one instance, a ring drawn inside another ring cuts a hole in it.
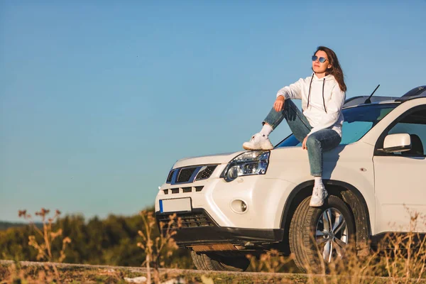
[{"label": "woman's dangling leg in blue jeans with white sock and sneaker", "polygon": [[310,163],[311,175],[314,176],[315,185],[312,191],[310,206],[320,207],[324,204],[324,200],[328,193],[322,183],[322,156],[325,151],[336,148],[342,138],[332,129],[321,129],[312,133],[306,141],[307,155]]}]

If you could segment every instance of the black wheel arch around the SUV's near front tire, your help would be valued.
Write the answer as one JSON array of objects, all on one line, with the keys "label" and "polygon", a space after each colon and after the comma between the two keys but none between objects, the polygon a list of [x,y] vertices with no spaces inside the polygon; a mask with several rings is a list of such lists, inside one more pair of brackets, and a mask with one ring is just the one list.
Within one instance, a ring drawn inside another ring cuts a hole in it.
[{"label": "black wheel arch around the SUV's near front tire", "polygon": [[[367,255],[369,252],[369,243],[371,240],[371,223],[370,213],[364,196],[359,190],[347,182],[340,180],[323,180],[327,191],[331,195],[342,198],[351,210],[354,217],[356,231],[356,250],[359,255]],[[288,243],[288,234],[290,222],[295,213],[297,205],[306,197],[312,195],[313,180],[297,185],[290,193],[285,201],[283,212],[281,214],[280,228],[284,229],[283,247],[281,248],[286,254],[290,254],[290,244]]]}]

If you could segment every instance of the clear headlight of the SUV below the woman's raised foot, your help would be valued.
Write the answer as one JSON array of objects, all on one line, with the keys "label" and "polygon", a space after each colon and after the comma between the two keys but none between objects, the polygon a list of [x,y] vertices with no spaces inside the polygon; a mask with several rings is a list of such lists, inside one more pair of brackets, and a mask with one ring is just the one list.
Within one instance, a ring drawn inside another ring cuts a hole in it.
[{"label": "clear headlight of the SUV below the woman's raised foot", "polygon": [[269,151],[250,151],[237,155],[229,162],[222,178],[231,182],[241,175],[265,175],[269,163]]}]

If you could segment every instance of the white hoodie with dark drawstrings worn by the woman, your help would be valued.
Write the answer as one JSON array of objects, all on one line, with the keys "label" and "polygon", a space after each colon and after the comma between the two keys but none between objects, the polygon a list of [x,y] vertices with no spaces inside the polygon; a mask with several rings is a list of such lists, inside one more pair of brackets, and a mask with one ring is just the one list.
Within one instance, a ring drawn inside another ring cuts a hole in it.
[{"label": "white hoodie with dark drawstrings worn by the woman", "polygon": [[[323,88],[324,97],[322,97]],[[310,96],[309,89],[311,89]],[[318,78],[314,73],[313,77],[300,78],[294,84],[280,89],[277,93],[278,96],[283,96],[285,99],[302,99],[303,114],[312,126],[308,136],[321,129],[333,129],[342,137],[342,107],[346,94],[340,89],[339,83],[333,75]]]}]

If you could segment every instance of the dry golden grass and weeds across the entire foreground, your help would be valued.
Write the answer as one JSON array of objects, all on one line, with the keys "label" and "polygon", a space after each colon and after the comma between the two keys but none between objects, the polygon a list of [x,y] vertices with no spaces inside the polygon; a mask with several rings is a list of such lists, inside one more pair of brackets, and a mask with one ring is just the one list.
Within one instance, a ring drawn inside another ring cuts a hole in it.
[{"label": "dry golden grass and weeds across the entire foreground", "polygon": [[[62,240],[62,250],[56,253],[59,257],[54,259],[55,253],[51,249],[51,243],[53,239],[62,236],[62,231],[52,231],[52,223],[60,212],[57,212],[53,219],[46,220],[48,213],[45,209],[36,212],[36,215],[42,217],[43,230],[37,231],[35,228],[35,231],[38,239],[44,242],[38,242],[35,236],[31,236],[28,244],[38,250],[40,260],[60,262],[65,256],[68,241]],[[31,219],[25,211],[20,214]],[[167,224],[159,224],[160,230],[165,234],[155,236],[157,228],[153,212],[142,211],[140,214],[144,228],[138,232],[142,238],[138,246],[146,253],[143,265],[148,268],[144,272],[132,272],[124,268],[66,268],[55,263],[43,264],[37,268],[22,267],[16,262],[13,265],[0,266],[0,279],[4,279],[0,283],[125,283],[125,277],[141,275],[146,275],[146,283],[151,283],[151,273],[155,283],[170,278],[181,278],[186,283],[426,283],[426,239],[415,233],[416,225],[419,222],[426,224],[426,218],[417,213],[411,214],[411,230],[408,234],[387,234],[378,249],[371,250],[368,256],[361,257],[357,255],[356,250],[347,249],[344,258],[332,264],[324,263],[320,257],[320,266],[307,267],[306,274],[277,273],[287,268],[292,260],[281,256],[275,250],[263,253],[259,259],[247,256],[251,259],[251,271],[266,273],[160,270],[165,266],[165,258],[172,256],[173,251],[178,249],[173,240],[176,232],[170,228],[174,222],[178,222],[179,227],[180,220],[176,219],[175,215],[170,215]],[[320,251],[318,254],[320,256]],[[312,273],[314,271],[320,271],[320,274]],[[202,274],[204,278],[201,277]]]}]

